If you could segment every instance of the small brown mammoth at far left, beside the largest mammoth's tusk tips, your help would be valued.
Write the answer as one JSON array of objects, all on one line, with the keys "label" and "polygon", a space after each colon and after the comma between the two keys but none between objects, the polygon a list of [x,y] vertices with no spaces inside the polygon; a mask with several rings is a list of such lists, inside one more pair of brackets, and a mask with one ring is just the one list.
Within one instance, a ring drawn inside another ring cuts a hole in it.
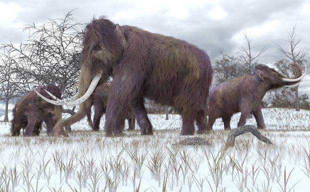
[{"label": "small brown mammoth at far left, beside the largest mammoth's tusk tips", "polygon": [[[44,90],[61,98],[61,93],[58,87],[53,84],[40,86],[35,89],[43,96],[51,98]],[[24,136],[39,135],[41,124],[45,122],[48,134],[52,134],[52,129],[55,124],[61,119],[61,106],[50,104],[35,94],[35,91],[30,91],[22,96],[13,108],[13,119],[11,121],[11,135],[18,136],[20,129],[25,130]]]}]

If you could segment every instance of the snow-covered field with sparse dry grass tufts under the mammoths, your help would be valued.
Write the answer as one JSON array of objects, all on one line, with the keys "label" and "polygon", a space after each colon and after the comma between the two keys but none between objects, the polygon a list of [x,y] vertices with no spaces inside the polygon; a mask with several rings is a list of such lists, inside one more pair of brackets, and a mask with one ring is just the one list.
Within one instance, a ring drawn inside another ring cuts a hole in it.
[{"label": "snow-covered field with sparse dry grass tufts under the mammoths", "polygon": [[228,149],[220,119],[215,131],[198,135],[211,146],[172,145],[187,138],[179,135],[179,115],[167,121],[149,115],[154,136],[137,130],[114,138],[89,131],[85,119],[68,138],[44,130],[39,137],[10,137],[10,124],[0,123],[0,192],[309,192],[310,111],[263,114],[262,133],[274,145],[245,134]]}]

